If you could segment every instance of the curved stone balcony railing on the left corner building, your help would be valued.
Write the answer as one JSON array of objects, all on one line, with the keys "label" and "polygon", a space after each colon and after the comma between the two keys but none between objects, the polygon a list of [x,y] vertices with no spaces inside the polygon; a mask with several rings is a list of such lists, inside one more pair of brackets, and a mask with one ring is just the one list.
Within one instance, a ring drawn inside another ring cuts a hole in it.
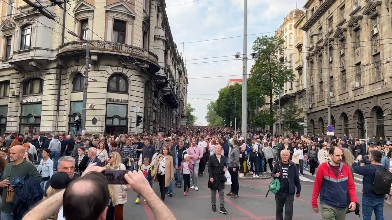
[{"label": "curved stone balcony railing on the left corner building", "polygon": [[125,55],[140,58],[142,60],[149,61],[158,65],[158,56],[140,47],[135,47],[122,43],[107,42],[100,40],[90,40],[89,43],[86,41],[71,41],[68,43],[63,43],[58,47],[57,56],[62,56],[64,54],[69,54],[72,52],[83,52],[86,50],[86,46],[90,45],[91,52],[105,52],[116,55]]}]

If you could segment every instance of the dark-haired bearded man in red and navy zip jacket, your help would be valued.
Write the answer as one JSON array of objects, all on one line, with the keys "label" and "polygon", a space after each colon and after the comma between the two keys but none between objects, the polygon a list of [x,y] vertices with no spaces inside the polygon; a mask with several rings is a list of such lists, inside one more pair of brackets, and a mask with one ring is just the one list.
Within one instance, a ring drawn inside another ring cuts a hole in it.
[{"label": "dark-haired bearded man in red and navy zip jacket", "polygon": [[[317,198],[320,195],[323,219],[346,219],[347,207],[354,211],[358,202],[355,183],[350,168],[342,163],[343,151],[329,149],[330,162],[320,164],[312,193],[312,208],[318,213]],[[348,196],[347,196],[348,195]]]}]

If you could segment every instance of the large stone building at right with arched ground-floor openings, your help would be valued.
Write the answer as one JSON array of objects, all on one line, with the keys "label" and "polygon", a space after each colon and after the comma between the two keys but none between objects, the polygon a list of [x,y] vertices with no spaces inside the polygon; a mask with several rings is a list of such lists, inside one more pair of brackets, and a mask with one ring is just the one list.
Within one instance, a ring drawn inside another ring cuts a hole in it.
[{"label": "large stone building at right with arched ground-floor openings", "polygon": [[308,133],[325,133],[330,117],[337,136],[364,138],[366,120],[368,136],[390,137],[392,2],[308,0],[304,7]]}]

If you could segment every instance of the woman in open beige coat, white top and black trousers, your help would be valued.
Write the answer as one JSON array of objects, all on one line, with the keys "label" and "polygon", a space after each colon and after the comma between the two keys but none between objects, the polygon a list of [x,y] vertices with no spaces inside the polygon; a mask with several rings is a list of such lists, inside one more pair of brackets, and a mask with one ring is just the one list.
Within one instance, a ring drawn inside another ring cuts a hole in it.
[{"label": "woman in open beige coat, white top and black trousers", "polygon": [[161,191],[161,199],[165,201],[167,187],[170,185],[170,180],[174,180],[174,165],[173,158],[170,156],[170,148],[163,147],[162,153],[158,155],[152,176],[154,181],[158,181],[159,189]]}]

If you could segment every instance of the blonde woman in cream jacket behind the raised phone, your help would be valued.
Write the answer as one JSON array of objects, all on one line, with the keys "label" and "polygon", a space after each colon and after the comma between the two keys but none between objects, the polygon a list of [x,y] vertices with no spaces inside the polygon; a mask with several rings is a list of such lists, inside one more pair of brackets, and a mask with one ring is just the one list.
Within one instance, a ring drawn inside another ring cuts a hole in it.
[{"label": "blonde woman in cream jacket behind the raised phone", "polygon": [[[106,165],[107,170],[125,170],[125,165],[122,164],[122,159],[120,153],[112,152],[109,155],[109,160]],[[123,208],[124,204],[127,202],[127,186],[125,185],[109,185],[113,187],[115,192],[116,201],[113,199],[114,206],[114,219],[123,220]]]}]

